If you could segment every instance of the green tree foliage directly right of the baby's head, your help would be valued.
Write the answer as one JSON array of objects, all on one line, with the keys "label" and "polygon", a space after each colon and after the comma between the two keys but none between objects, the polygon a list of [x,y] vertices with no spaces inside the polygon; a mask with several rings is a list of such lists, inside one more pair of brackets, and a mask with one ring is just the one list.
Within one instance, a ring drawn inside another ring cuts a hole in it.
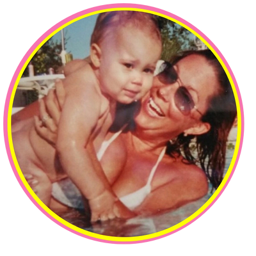
[{"label": "green tree foliage directly right of the baby's head", "polygon": [[172,20],[158,17],[163,41],[161,60],[171,61],[180,51],[196,49],[193,34]]}]

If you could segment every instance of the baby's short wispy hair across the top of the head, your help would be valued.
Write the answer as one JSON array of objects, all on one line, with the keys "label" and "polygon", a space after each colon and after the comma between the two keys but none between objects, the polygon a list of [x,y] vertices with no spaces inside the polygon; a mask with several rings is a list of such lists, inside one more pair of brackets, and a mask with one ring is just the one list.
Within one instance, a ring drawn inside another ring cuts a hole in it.
[{"label": "baby's short wispy hair across the top of the head", "polygon": [[92,33],[91,45],[100,44],[106,36],[115,35],[116,29],[124,26],[133,26],[141,31],[147,31],[148,35],[155,36],[161,41],[156,15],[136,11],[115,11],[99,14]]}]

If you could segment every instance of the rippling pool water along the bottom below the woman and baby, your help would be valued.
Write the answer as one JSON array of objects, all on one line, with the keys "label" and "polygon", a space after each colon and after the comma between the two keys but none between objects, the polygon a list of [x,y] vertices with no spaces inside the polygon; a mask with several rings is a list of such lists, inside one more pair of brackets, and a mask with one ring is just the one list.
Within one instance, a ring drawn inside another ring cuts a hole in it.
[{"label": "rippling pool water along the bottom below the woman and baby", "polygon": [[[228,170],[233,154],[234,148],[227,150],[225,172]],[[87,211],[70,209],[70,211],[65,213],[56,213],[69,223],[96,234],[116,237],[144,236],[173,227],[173,225],[180,223],[180,221],[186,220],[191,214],[200,209],[209,200],[211,195],[210,188],[209,193],[200,200],[184,205],[174,211],[168,211],[150,217],[138,216],[130,220],[116,219],[94,225],[91,225],[90,216],[86,213]]]}]

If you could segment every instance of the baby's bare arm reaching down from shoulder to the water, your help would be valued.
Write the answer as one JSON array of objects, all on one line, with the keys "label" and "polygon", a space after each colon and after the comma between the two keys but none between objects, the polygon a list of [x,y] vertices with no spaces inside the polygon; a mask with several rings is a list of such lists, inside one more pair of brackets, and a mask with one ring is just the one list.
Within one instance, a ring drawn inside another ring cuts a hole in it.
[{"label": "baby's bare arm reaching down from shoulder to the water", "polygon": [[[71,82],[79,86],[72,86],[72,90],[68,90],[68,83]],[[99,202],[108,203],[108,209],[103,204],[92,207],[92,211],[95,211],[92,215],[100,217],[111,211],[115,196],[110,192],[106,177],[104,179],[104,175],[99,175],[98,169],[95,170],[93,161],[97,159],[90,156],[90,140],[100,116],[99,94],[95,86],[81,86],[84,84],[81,74],[65,79],[64,83],[67,84],[67,96],[61,112],[56,150],[64,171],[89,202],[99,198]]]}]

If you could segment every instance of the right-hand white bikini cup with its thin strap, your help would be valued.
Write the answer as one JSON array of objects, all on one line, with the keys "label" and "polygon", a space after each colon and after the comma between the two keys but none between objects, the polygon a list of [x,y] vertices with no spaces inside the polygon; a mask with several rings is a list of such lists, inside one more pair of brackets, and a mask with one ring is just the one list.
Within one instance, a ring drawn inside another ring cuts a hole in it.
[{"label": "right-hand white bikini cup with its thin strap", "polygon": [[138,189],[137,191],[132,192],[131,194],[128,194],[126,196],[122,196],[119,198],[119,200],[130,210],[134,210],[136,207],[138,207],[147,197],[148,194],[151,192],[151,182],[154,177],[154,174],[157,170],[157,167],[161,160],[164,157],[164,154],[166,152],[166,147],[163,148],[161,154],[159,155],[156,164],[153,166],[150,175],[148,177],[147,184]]}]

